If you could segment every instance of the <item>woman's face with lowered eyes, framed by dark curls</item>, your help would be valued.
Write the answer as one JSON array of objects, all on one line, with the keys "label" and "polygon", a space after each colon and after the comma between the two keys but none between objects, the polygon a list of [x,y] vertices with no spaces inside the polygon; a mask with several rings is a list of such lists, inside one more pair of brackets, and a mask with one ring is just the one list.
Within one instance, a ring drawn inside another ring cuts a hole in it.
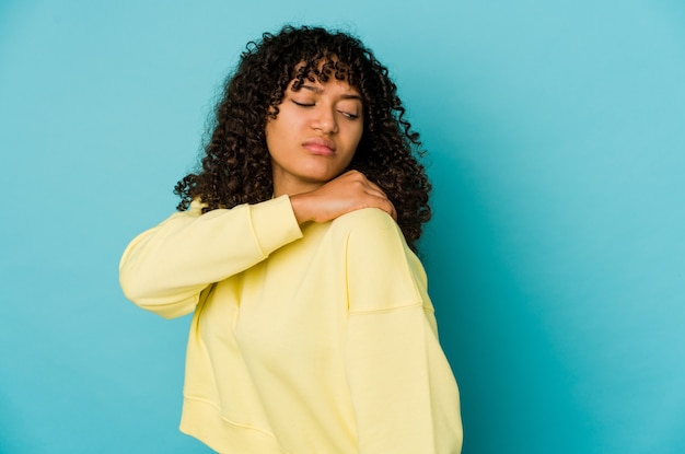
[{"label": "woman's face with lowered eyes, framed by dark curls", "polygon": [[292,82],[266,125],[274,194],[314,190],[340,175],[355,156],[363,132],[359,92],[345,81]]}]

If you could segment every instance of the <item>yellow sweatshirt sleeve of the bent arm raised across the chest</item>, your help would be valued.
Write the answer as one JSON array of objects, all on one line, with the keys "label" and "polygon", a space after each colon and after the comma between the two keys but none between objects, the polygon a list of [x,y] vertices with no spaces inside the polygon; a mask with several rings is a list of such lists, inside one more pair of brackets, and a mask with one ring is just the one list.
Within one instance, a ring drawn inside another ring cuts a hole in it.
[{"label": "yellow sweatshirt sleeve of the bent arm raised across the chest", "polygon": [[131,241],[119,263],[126,298],[165,318],[193,312],[200,292],[302,236],[288,196],[201,214],[194,201]]}]

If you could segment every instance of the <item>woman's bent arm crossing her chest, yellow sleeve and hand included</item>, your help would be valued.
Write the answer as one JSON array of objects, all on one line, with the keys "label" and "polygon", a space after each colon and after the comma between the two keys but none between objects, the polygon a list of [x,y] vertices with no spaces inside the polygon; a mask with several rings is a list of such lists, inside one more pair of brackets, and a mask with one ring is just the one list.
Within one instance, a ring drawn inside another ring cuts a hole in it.
[{"label": "woman's bent arm crossing her chest, yellow sleeve and hand included", "polygon": [[385,194],[350,171],[310,191],[200,216],[201,206],[175,213],[137,236],[124,252],[119,280],[139,306],[171,318],[191,312],[209,284],[241,272],[302,236],[299,224],[326,222],[376,207],[391,216]]}]

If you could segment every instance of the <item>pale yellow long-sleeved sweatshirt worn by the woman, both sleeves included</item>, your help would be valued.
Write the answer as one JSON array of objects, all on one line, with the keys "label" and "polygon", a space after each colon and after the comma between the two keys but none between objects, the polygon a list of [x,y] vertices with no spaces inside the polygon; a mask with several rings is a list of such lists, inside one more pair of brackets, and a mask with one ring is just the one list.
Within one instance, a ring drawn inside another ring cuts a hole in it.
[{"label": "pale yellow long-sleeved sweatshirt worn by the woman, both sleeves included", "polygon": [[127,298],[195,311],[181,430],[220,453],[460,453],[426,275],[378,209],[302,228],[288,196],[171,216],[120,263]]}]

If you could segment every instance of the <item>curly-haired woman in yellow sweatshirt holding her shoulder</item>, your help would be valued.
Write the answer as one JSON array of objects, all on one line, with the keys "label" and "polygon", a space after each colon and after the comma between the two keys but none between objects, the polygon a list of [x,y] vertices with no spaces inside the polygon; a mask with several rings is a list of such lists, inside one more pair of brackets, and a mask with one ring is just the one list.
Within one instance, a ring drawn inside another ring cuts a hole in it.
[{"label": "curly-haired woman in yellow sweatshirt holding her shoulder", "polygon": [[411,251],[418,135],[353,37],[251,43],[179,212],[127,247],[127,298],[195,312],[181,430],[221,453],[458,453],[456,383]]}]

